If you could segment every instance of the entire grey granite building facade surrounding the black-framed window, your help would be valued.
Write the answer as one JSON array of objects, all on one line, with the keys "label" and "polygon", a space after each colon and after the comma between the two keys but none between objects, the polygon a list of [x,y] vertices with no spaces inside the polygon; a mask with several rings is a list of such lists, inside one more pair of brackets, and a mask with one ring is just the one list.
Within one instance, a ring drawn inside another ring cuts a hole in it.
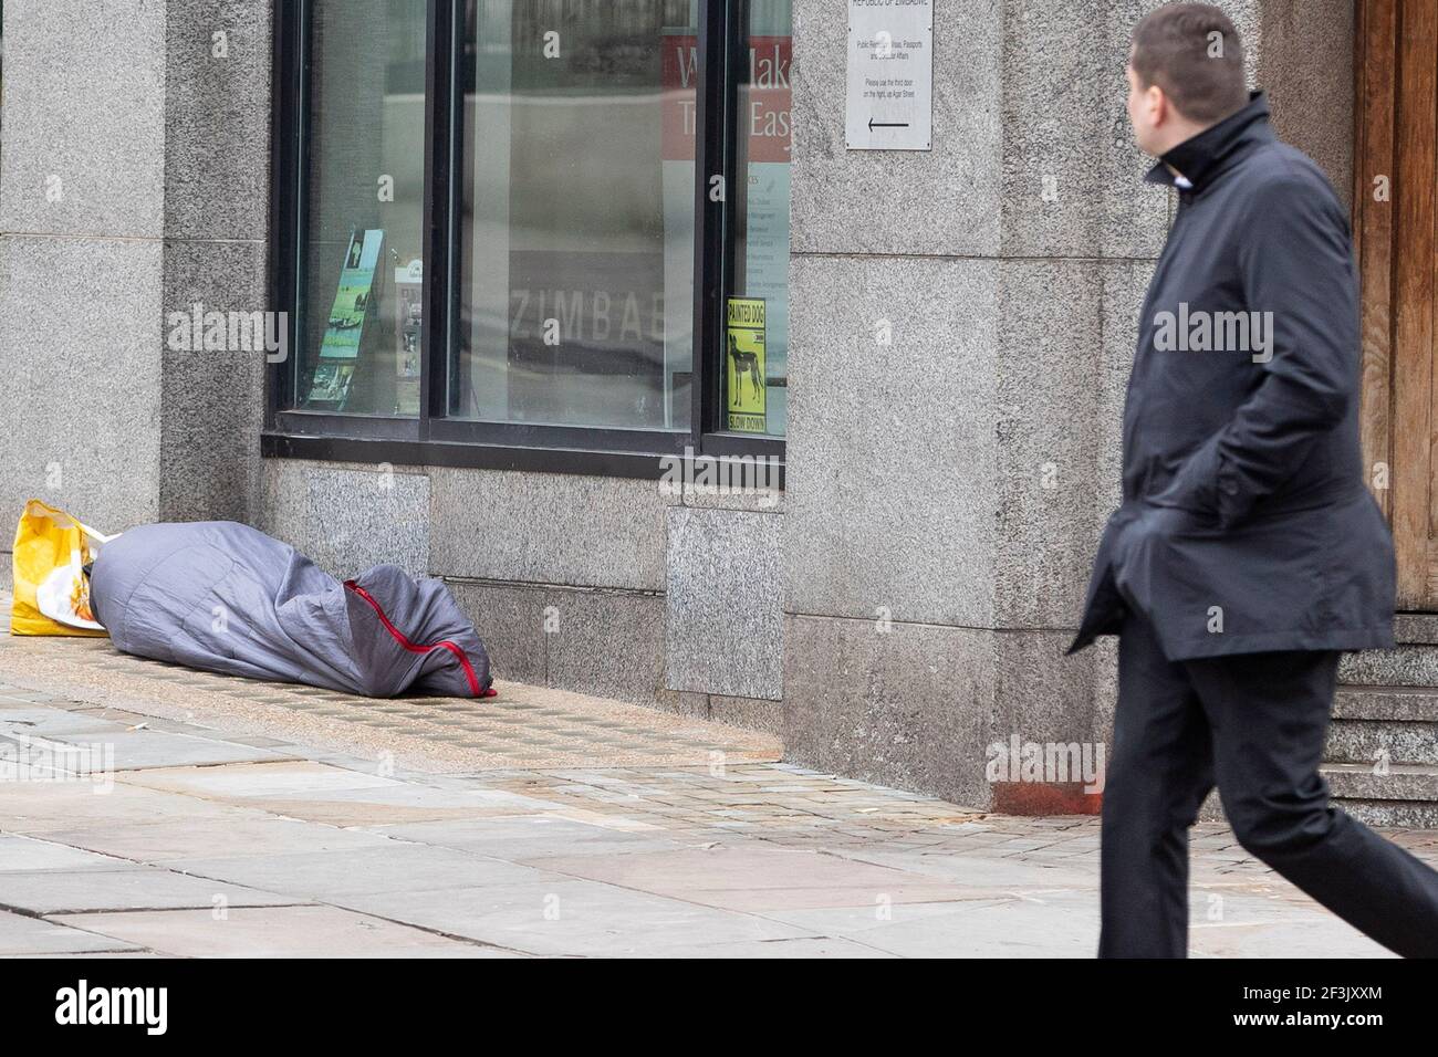
[{"label": "entire grey granite building facade surrounding the black-framed window", "polygon": [[[1172,209],[1125,115],[1153,6],[936,0],[932,150],[848,151],[847,4],[794,1],[775,502],[666,492],[657,463],[266,440],[265,358],[177,351],[165,321],[282,308],[282,6],[6,0],[0,508],[237,519],[335,571],[394,561],[453,585],[500,679],[778,731],[794,762],[1002,807],[986,746],[1102,742],[1112,715],[1112,650],[1063,651]],[[1350,197],[1353,4],[1224,7],[1280,132]]]}]

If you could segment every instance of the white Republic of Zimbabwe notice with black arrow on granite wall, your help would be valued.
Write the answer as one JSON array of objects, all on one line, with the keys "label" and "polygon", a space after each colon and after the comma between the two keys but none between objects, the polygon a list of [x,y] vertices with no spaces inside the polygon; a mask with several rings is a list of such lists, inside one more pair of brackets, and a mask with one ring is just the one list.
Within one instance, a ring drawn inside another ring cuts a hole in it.
[{"label": "white Republic of Zimbabwe notice with black arrow on granite wall", "polygon": [[851,151],[926,151],[933,129],[933,0],[848,0]]}]

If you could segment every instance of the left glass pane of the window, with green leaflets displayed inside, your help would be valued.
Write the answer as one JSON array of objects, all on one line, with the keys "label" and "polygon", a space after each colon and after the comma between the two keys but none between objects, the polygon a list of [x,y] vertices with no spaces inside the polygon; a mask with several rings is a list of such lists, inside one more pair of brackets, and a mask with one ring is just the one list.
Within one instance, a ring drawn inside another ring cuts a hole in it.
[{"label": "left glass pane of the window, with green leaflets displayed inside", "polygon": [[306,7],[306,209],[299,342],[288,361],[293,406],[417,417],[424,4],[315,0]]}]

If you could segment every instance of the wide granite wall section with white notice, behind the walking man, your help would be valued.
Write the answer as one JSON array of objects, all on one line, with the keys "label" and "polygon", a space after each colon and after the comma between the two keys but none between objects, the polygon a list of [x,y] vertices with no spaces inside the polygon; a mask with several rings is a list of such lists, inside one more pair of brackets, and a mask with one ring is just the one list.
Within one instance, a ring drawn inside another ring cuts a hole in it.
[{"label": "wide granite wall section with white notice, behind the walking man", "polygon": [[[1129,33],[1156,6],[935,4],[933,150],[906,154],[844,148],[847,4],[795,3],[795,762],[1012,808],[989,745],[1107,736],[1112,644],[1063,653],[1117,502],[1136,315],[1169,219],[1125,111]],[[1346,188],[1350,4],[1222,6],[1280,131]],[[1053,792],[1020,800],[1097,800]]]}]

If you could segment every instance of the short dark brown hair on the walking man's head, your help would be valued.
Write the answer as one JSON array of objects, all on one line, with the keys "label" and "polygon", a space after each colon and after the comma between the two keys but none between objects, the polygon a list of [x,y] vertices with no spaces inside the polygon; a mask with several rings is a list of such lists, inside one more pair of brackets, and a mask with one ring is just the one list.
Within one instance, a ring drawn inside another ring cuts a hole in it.
[{"label": "short dark brown hair on the walking man's head", "polygon": [[1211,125],[1248,102],[1242,42],[1212,4],[1168,4],[1143,16],[1129,65],[1143,88],[1162,88],[1189,121]]}]

